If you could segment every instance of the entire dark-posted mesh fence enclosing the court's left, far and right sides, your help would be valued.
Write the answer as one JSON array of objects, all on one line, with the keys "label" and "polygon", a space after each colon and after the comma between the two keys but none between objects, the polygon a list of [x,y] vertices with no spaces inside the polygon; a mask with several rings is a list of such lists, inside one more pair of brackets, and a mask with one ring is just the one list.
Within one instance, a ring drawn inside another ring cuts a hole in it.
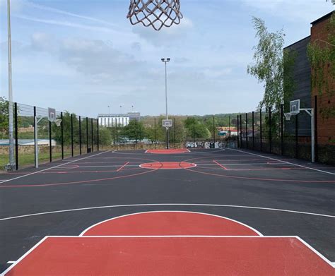
[{"label": "entire dark-posted mesh fence enclosing the court's left, far and right sides", "polygon": [[[8,104],[8,102],[7,102]],[[48,109],[26,104],[14,105],[15,164],[19,167],[52,162],[98,150],[143,150],[169,148],[247,148],[277,155],[311,159],[310,115],[300,112],[286,121],[281,110],[262,109],[246,114],[170,116],[172,127],[162,126],[165,116],[131,119],[127,126],[101,126],[97,119],[70,112],[56,112],[61,124],[48,119]],[[320,112],[315,97],[315,160],[335,164],[335,144],[326,132],[318,131]],[[0,114],[5,118],[6,114]],[[37,136],[35,133],[35,118]],[[8,164],[8,131],[0,131],[0,167]],[[323,128],[320,128],[323,130]],[[326,133],[326,134],[325,134]],[[35,137],[36,136],[36,137]]]}]

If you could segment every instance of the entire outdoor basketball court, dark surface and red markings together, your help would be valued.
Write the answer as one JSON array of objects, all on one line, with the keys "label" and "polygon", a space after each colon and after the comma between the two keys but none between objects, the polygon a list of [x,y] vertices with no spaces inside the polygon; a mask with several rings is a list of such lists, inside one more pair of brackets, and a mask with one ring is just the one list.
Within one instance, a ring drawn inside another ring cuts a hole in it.
[{"label": "entire outdoor basketball court, dark surface and red markings together", "polygon": [[114,151],[1,175],[3,275],[334,275],[335,169]]}]

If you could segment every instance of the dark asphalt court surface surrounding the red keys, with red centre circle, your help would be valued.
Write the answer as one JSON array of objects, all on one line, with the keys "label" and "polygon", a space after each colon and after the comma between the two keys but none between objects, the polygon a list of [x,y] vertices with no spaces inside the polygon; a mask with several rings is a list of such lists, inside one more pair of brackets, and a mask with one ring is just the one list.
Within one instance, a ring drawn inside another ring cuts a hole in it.
[{"label": "dark asphalt court surface surrounding the red keys, with red centre circle", "polygon": [[247,150],[95,152],[0,174],[0,272],[45,236],[159,210],[299,236],[335,262],[335,167]]}]

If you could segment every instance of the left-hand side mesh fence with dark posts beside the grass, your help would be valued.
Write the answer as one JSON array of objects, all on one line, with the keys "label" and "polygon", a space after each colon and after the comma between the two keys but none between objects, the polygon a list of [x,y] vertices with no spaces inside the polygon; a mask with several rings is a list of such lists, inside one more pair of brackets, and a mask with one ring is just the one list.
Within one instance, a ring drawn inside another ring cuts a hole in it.
[{"label": "left-hand side mesh fence with dark posts beside the grass", "polygon": [[[8,102],[4,105],[8,106]],[[56,119],[61,120],[57,126],[49,121],[48,109],[20,103],[13,103],[13,107],[16,169],[99,150],[97,119],[57,111]],[[0,167],[3,169],[9,159],[6,110],[1,110],[1,119],[4,119],[1,121],[0,138]]]}]

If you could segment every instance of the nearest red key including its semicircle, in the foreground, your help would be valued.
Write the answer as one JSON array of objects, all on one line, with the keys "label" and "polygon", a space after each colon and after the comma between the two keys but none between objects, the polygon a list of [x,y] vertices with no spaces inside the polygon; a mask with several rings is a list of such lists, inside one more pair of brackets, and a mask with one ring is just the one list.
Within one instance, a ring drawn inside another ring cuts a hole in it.
[{"label": "nearest red key including its semicircle, in the foreground", "polygon": [[295,236],[262,236],[197,212],[143,212],[99,222],[80,236],[51,236],[4,275],[332,275]]}]

